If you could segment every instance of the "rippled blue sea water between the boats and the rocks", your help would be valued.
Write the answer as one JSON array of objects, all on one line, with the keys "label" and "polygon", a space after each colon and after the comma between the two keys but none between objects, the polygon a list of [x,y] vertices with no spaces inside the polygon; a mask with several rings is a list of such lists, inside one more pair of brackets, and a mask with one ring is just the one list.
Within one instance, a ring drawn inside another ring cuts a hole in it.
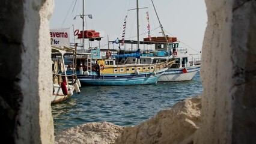
[{"label": "rippled blue sea water between the boats and the rocks", "polygon": [[136,86],[85,86],[81,94],[52,105],[57,131],[88,122],[136,125],[172,107],[178,101],[203,93],[200,74],[189,82]]}]

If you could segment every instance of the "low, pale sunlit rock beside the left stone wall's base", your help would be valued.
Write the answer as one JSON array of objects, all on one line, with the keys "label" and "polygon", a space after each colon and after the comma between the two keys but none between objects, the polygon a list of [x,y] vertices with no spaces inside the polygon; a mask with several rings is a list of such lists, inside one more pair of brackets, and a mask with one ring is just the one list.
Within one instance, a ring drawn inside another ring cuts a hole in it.
[{"label": "low, pale sunlit rock beside the left stone wall's base", "polygon": [[123,127],[109,122],[91,122],[61,131],[55,143],[114,143],[122,131]]}]

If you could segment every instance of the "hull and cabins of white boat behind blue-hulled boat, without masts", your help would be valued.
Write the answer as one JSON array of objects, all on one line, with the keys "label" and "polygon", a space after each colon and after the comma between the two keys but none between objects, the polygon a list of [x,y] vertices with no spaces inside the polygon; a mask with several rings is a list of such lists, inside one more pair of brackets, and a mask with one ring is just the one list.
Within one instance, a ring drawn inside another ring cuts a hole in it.
[{"label": "hull and cabins of white boat behind blue-hulled boat, without masts", "polygon": [[[148,63],[173,61],[168,70],[159,78],[158,82],[177,82],[192,80],[195,74],[201,68],[201,53],[191,55],[186,47],[178,47],[178,43],[169,43],[171,51],[165,49],[166,43],[155,43],[156,50],[149,51],[148,54],[141,56],[141,61]],[[161,50],[157,49],[163,45]],[[171,56],[165,56],[164,53],[172,53]]]}]

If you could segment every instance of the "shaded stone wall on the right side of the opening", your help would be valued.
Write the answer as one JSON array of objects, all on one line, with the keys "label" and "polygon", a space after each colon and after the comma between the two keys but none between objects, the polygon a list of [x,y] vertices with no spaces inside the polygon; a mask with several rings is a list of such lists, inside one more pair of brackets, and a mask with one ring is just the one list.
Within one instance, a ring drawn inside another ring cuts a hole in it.
[{"label": "shaded stone wall on the right side of the opening", "polygon": [[195,143],[256,142],[256,3],[206,0],[202,121]]}]

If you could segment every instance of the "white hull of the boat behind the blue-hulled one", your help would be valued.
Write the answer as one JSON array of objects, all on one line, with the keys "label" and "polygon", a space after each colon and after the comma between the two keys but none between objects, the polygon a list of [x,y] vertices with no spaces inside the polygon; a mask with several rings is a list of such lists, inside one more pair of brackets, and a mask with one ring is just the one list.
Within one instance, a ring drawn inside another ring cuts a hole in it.
[{"label": "white hull of the boat behind the blue-hulled one", "polygon": [[186,67],[187,72],[183,73],[183,68],[169,68],[160,76],[157,82],[179,82],[192,80],[195,74],[200,71],[200,65]]}]

